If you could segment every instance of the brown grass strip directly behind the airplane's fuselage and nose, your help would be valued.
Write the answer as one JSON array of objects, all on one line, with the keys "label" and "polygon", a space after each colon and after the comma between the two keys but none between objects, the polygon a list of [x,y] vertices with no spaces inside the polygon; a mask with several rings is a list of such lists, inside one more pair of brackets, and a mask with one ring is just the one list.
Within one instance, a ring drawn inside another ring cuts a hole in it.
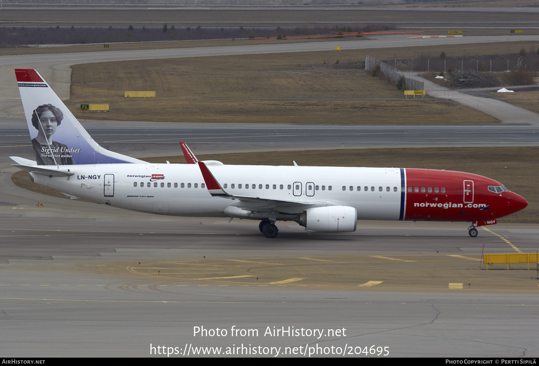
[{"label": "brown grass strip directly behind the airplane's fuselage and nose", "polygon": [[[407,167],[464,171],[500,181],[529,202],[526,209],[500,222],[539,223],[539,147],[427,147],[423,149],[342,149],[205,154],[199,160],[239,165],[299,165]],[[185,164],[181,156],[142,158],[150,163]],[[19,187],[66,198],[53,189],[32,183],[27,172],[12,175]]]}]

